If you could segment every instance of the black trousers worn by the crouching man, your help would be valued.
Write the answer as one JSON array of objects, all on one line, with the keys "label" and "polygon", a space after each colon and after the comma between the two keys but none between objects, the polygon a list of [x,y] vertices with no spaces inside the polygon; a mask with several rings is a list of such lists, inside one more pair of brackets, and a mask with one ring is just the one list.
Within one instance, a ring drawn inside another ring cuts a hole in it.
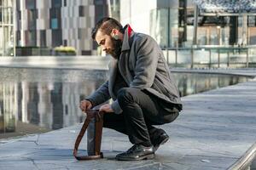
[{"label": "black trousers worn by the crouching man", "polygon": [[163,100],[138,88],[121,88],[117,98],[123,112],[119,115],[106,113],[103,127],[125,133],[132,144],[151,144],[158,130],[153,125],[172,122],[179,114],[175,105],[166,105],[169,108],[166,111]]}]

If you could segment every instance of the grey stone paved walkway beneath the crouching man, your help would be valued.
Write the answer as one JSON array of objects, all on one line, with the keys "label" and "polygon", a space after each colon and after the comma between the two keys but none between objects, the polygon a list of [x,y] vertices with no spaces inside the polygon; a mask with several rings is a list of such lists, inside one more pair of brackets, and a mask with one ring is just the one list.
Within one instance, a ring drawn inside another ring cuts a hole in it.
[{"label": "grey stone paved walkway beneath the crouching man", "polygon": [[[256,72],[253,71],[253,75],[256,76]],[[72,154],[79,124],[21,139],[0,140],[0,169],[213,170],[236,167],[242,162],[242,156],[255,155],[255,101],[256,78],[183,97],[181,115],[175,122],[161,126],[171,139],[160,147],[154,160],[115,161],[114,156],[131,144],[125,135],[104,129],[102,151],[105,158],[76,161]],[[85,148],[86,138],[80,149]]]}]

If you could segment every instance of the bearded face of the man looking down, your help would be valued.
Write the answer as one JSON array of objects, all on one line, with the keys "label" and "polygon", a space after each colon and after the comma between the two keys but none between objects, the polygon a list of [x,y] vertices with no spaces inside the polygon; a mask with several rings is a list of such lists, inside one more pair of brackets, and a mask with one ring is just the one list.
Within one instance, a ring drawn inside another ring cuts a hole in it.
[{"label": "bearded face of the man looking down", "polygon": [[97,31],[95,39],[96,42],[102,47],[103,51],[112,55],[115,59],[119,58],[122,46],[121,40],[115,40],[113,37],[101,30]]}]

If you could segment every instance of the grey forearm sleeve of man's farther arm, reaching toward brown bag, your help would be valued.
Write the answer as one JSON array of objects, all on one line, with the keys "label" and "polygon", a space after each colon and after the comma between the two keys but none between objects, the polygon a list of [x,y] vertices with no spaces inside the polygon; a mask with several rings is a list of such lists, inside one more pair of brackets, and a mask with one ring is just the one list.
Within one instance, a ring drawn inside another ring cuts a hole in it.
[{"label": "grey forearm sleeve of man's farther arm, reaching toward brown bag", "polygon": [[110,99],[110,94],[108,92],[108,81],[103,83],[100,88],[98,88],[86,99],[90,100],[93,107],[95,107],[96,105],[101,105],[102,103],[108,101],[108,99]]}]

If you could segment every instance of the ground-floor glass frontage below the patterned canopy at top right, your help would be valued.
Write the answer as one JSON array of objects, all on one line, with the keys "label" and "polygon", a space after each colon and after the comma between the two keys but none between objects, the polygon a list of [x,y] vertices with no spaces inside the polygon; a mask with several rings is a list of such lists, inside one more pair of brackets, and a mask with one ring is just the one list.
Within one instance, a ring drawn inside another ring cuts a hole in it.
[{"label": "ground-floor glass frontage below the patterned canopy at top right", "polygon": [[201,16],[198,26],[198,45],[256,44],[255,16]]}]

